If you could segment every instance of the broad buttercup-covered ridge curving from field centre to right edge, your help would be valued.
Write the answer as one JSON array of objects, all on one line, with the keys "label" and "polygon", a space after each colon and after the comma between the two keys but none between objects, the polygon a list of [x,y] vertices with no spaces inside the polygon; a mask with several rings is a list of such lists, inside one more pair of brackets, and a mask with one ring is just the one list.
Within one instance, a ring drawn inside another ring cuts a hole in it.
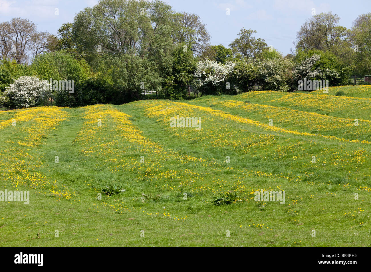
[{"label": "broad buttercup-covered ridge curving from field centre to right edge", "polygon": [[[283,172],[288,171],[294,176],[302,176],[308,183],[318,179],[314,175],[315,172],[321,172],[327,177],[330,175],[326,178],[328,182],[331,182],[331,179],[338,180],[334,173],[344,178],[341,182],[353,177],[354,180],[361,179],[361,184],[364,184],[363,180],[370,179],[364,173],[357,172],[359,169],[365,169],[365,162],[370,161],[369,152],[354,145],[348,147],[347,142],[340,145],[338,141],[292,140],[287,136],[265,134],[265,129],[271,129],[268,125],[260,125],[259,122],[245,120],[246,118],[186,103],[141,101],[136,104],[144,109],[148,117],[160,121],[165,131],[182,141],[197,138],[200,148],[216,148],[222,154],[253,159],[260,161],[262,165],[273,162],[272,167],[275,167],[275,164],[280,165],[284,169]],[[201,117],[201,130],[170,127],[170,118],[176,115]],[[254,125],[255,132],[243,129],[243,124]],[[313,156],[316,157],[315,163],[311,161]]]}]

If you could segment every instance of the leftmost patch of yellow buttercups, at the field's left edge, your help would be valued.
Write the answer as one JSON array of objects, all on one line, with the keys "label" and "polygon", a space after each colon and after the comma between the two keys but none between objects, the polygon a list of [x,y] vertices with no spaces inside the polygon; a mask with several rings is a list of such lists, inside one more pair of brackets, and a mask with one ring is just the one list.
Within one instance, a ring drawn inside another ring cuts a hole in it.
[{"label": "leftmost patch of yellow buttercups, at the field's left edge", "polygon": [[[42,138],[46,138],[67,116],[63,108],[36,107],[17,111],[12,119],[1,122],[1,125],[13,130],[14,140],[6,141],[0,151],[0,179],[3,186],[46,189],[56,197],[71,198],[68,189],[63,185],[59,189],[56,181],[42,174],[40,158],[32,155],[35,148],[42,144]],[[45,194],[42,191],[40,193]]]}]

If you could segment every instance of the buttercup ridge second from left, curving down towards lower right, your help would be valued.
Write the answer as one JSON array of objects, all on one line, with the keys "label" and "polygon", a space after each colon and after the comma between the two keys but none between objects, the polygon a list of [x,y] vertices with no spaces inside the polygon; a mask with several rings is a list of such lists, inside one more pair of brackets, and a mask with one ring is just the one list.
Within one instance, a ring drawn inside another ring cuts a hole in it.
[{"label": "buttercup ridge second from left, curving down towards lower right", "polygon": [[[151,185],[151,188],[154,187],[151,193],[169,194],[173,197],[175,197],[174,193],[181,194],[181,189],[186,188],[188,192],[196,195],[206,193],[203,198],[206,203],[210,201],[212,193],[236,190],[241,195],[240,200],[246,197],[246,203],[248,203],[257,189],[271,189],[270,185],[276,186],[279,180],[285,178],[295,180],[286,175],[256,170],[246,171],[246,169],[234,171],[230,180],[220,179],[222,172],[228,168],[221,167],[220,163],[209,161],[209,158],[197,157],[195,159],[161,147],[145,138],[142,132],[131,123],[129,115],[112,109],[112,106],[89,106],[86,108],[85,118],[84,126],[75,142],[84,147],[83,154],[92,158],[101,158],[101,164],[111,169],[113,173],[124,172],[127,177],[132,173],[131,177],[134,178],[134,182],[128,183],[128,188],[132,186],[148,188],[148,185]],[[98,120],[102,122],[101,125],[98,125]],[[112,149],[113,146],[119,147],[119,150]],[[140,162],[139,155],[144,155],[144,163]],[[193,167],[196,166],[195,172]],[[271,180],[259,186],[246,183],[248,179],[256,177]],[[122,177],[121,180],[115,182],[122,184],[124,181],[127,180]],[[135,181],[139,184],[136,185]],[[172,193],[173,190],[174,193]],[[96,192],[99,192],[99,188],[96,188]],[[133,199],[127,198],[124,202],[113,204],[112,200],[105,200],[102,205],[113,207],[116,212],[124,213],[132,211],[133,207],[129,206],[129,203],[133,203]],[[184,207],[180,208],[184,209]],[[148,212],[148,214],[161,215],[159,211]],[[168,214],[162,214],[162,216],[167,217]]]}]

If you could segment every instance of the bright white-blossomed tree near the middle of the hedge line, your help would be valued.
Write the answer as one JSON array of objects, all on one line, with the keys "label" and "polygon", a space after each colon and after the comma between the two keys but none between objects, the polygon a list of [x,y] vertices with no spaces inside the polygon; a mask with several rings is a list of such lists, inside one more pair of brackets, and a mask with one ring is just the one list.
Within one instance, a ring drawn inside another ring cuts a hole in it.
[{"label": "bright white-blossomed tree near the middle of the hedge line", "polygon": [[234,70],[235,63],[227,61],[226,64],[217,63],[214,60],[199,61],[194,77],[197,87],[204,94],[216,94],[218,90],[226,89],[226,82]]}]

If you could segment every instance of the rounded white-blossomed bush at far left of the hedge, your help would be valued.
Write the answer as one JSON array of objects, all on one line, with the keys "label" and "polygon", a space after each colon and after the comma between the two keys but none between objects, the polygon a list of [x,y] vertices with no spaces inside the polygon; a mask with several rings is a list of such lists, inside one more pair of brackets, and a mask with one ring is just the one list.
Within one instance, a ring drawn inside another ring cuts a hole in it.
[{"label": "rounded white-blossomed bush at far left of the hedge", "polygon": [[22,76],[10,84],[5,94],[9,97],[12,108],[34,107],[46,95],[46,80],[37,77]]}]

